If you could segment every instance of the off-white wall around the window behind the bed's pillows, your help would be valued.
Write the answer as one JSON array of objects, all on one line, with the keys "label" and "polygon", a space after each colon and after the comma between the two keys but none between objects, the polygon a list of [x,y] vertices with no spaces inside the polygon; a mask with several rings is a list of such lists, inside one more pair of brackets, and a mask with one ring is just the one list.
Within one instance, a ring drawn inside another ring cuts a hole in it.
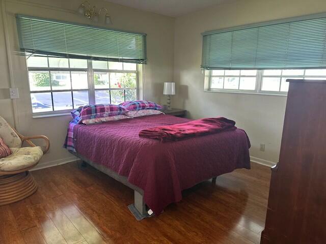
[{"label": "off-white wall around the window behind the bed's pillows", "polygon": [[[13,123],[15,111],[17,114],[16,128],[20,133],[23,135],[44,134],[49,137],[51,142],[50,151],[42,158],[39,167],[69,161],[73,157],[66,149],[62,148],[62,145],[70,116],[32,118],[25,59],[23,56],[15,54],[15,50],[18,50],[15,14],[19,13],[92,25],[95,23],[89,22],[86,18],[75,14],[76,9],[82,2],[79,0],[0,1],[2,6],[5,7],[5,10],[0,12],[0,15],[5,13],[4,18],[0,18],[0,89],[4,88],[4,94],[7,96],[8,88],[10,87],[9,67],[12,67],[13,87],[18,87],[20,94],[20,98],[16,100],[17,109],[14,110],[12,101],[5,98],[5,95],[2,96],[2,90],[0,90],[0,115],[8,119],[10,123]],[[110,4],[105,1],[91,2],[98,7],[110,9],[114,24],[106,27],[147,34],[148,64],[145,66],[144,73],[144,98],[161,102],[163,82],[173,79],[174,19],[121,5]],[[4,31],[4,24],[8,25],[8,32],[6,32],[6,29]],[[8,44],[10,45],[9,59],[6,57],[5,37],[8,38]]]}]

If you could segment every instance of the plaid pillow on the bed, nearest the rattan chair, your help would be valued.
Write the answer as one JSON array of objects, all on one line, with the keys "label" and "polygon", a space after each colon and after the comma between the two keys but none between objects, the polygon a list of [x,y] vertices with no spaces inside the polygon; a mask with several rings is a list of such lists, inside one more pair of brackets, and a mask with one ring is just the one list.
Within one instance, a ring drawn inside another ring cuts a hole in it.
[{"label": "plaid pillow on the bed, nearest the rattan chair", "polygon": [[80,111],[80,119],[91,119],[91,118],[101,118],[110,117],[119,114],[124,114],[128,112],[125,107],[114,104],[95,104],[84,106],[82,111]]}]

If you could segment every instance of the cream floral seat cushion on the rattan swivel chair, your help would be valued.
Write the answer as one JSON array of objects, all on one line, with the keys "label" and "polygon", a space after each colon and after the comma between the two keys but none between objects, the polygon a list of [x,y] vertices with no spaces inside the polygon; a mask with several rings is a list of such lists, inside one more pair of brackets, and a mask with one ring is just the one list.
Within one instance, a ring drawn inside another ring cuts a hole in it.
[{"label": "cream floral seat cushion on the rattan swivel chair", "polygon": [[12,154],[0,159],[0,171],[16,171],[36,164],[43,156],[40,146],[11,147]]}]

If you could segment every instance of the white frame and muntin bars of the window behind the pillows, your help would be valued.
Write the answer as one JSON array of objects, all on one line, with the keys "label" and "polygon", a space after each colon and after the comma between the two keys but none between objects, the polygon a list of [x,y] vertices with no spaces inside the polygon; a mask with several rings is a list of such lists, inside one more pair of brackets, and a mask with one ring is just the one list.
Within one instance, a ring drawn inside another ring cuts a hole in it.
[{"label": "white frame and muntin bars of the window behind the pillows", "polygon": [[[68,58],[68,62],[70,63],[70,60]],[[70,68],[70,65],[68,68],[51,68],[49,67],[49,57],[47,57],[47,66],[48,67],[29,67],[27,64],[27,59],[26,59],[26,68],[27,68],[27,75],[28,75],[28,86],[29,86],[29,93],[30,93],[30,105],[31,105],[31,110],[32,110],[32,117],[33,118],[39,118],[39,117],[52,117],[52,116],[61,116],[61,115],[68,115],[70,114],[70,111],[72,109],[76,109],[73,104],[73,92],[79,92],[79,91],[88,91],[88,99],[89,99],[89,104],[96,104],[95,103],[95,90],[126,90],[126,89],[134,89],[136,90],[136,98],[139,99],[140,96],[140,84],[139,84],[139,71],[142,70],[140,64],[135,64],[136,65],[136,70],[112,70],[112,69],[93,69],[93,63],[91,59],[87,59],[87,68]],[[107,67],[108,68],[108,67]],[[46,71],[49,72],[49,79],[50,79],[50,89],[45,89],[45,90],[31,90],[31,85],[30,85],[30,71]],[[88,78],[88,88],[83,88],[83,89],[73,89],[72,87],[72,79],[71,79],[71,73],[70,73],[70,84],[71,87],[70,89],[58,89],[58,90],[53,90],[52,89],[52,82],[51,82],[51,75],[50,72],[57,71],[57,72],[87,72],[87,78]],[[94,73],[96,72],[106,72],[109,75],[109,82],[110,82],[110,73],[134,73],[136,76],[136,86],[134,88],[95,88],[94,85]],[[71,99],[72,99],[72,105],[74,108],[72,109],[63,109],[63,110],[54,110],[54,105],[53,105],[53,94],[52,93],[56,92],[71,92]],[[44,111],[44,112],[33,112],[33,104],[32,104],[32,98],[31,95],[35,93],[51,93],[51,100],[52,100],[52,111]],[[124,99],[125,99],[125,94],[124,94]],[[111,101],[110,101],[111,102]]]}]

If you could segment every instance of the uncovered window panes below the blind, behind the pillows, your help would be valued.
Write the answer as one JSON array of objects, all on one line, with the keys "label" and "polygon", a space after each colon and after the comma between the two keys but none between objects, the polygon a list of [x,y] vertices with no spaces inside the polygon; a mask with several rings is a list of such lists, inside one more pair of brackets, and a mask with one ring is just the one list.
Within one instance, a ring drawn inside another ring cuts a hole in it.
[{"label": "uncovered window panes below the blind, behind the pillows", "polygon": [[47,56],[26,56],[26,63],[33,113],[138,98],[137,64]]}]

